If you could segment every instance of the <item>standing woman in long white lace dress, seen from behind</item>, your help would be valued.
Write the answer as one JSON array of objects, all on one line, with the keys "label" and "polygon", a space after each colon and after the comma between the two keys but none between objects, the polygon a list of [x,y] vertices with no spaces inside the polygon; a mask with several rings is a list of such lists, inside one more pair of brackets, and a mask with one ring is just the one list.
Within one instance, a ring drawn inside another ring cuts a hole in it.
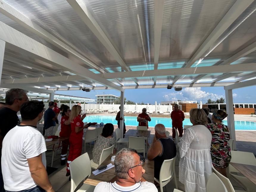
[{"label": "standing woman in long white lace dress, seen from behind", "polygon": [[207,117],[202,109],[191,109],[189,115],[193,126],[186,129],[178,143],[179,181],[185,185],[186,192],[204,192],[212,174],[212,134],[204,126]]}]

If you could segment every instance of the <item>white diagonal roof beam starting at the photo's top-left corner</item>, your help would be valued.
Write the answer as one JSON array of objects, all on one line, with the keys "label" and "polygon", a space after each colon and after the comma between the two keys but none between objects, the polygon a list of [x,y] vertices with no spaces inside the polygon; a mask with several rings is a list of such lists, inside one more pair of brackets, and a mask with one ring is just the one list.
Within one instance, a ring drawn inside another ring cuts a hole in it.
[{"label": "white diagonal roof beam starting at the photo's top-left corner", "polygon": [[64,52],[71,54],[72,56],[76,57],[84,64],[90,66],[91,68],[104,73],[104,70],[99,68],[96,64],[79,54],[77,51],[71,48],[71,46],[63,43],[58,38],[51,35],[49,32],[44,30],[42,27],[37,25],[35,22],[31,21],[22,13],[15,10],[9,4],[1,1],[0,3],[0,13],[4,14],[5,16],[9,17],[13,21],[17,22],[24,28],[28,29],[29,31],[33,32],[34,34],[38,35],[39,37],[43,38],[44,40],[48,41],[49,43],[57,46],[59,49],[63,50]]}]

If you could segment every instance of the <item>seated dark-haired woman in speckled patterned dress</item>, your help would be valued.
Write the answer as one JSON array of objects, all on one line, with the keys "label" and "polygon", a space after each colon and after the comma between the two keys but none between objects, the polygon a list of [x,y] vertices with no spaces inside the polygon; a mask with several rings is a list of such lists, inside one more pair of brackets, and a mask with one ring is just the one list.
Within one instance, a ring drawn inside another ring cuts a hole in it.
[{"label": "seated dark-haired woman in speckled patterned dress", "polygon": [[93,147],[93,162],[99,164],[100,155],[103,149],[107,149],[114,146],[114,154],[116,151],[116,141],[112,136],[114,132],[114,126],[111,123],[107,123],[104,125],[102,129],[102,134],[98,137],[94,147]]}]

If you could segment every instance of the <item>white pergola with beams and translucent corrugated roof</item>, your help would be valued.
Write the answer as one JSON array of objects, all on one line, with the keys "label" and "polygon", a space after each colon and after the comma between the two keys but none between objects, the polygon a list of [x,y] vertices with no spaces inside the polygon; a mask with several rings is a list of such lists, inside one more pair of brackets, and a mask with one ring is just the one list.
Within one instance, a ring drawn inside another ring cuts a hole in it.
[{"label": "white pergola with beams and translucent corrugated roof", "polygon": [[124,101],[125,89],[220,86],[235,139],[232,89],[256,85],[255,10],[253,0],[2,0],[0,87],[50,98],[115,89]]}]

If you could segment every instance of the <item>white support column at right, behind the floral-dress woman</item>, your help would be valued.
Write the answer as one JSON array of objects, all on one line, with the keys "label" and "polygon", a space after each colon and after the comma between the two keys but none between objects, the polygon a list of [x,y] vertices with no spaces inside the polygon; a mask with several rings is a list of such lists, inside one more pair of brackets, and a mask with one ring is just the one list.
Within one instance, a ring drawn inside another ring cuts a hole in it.
[{"label": "white support column at right, behind the floral-dress woman", "polygon": [[230,139],[234,139],[234,149],[236,149],[235,141],[235,119],[234,119],[234,108],[233,108],[233,96],[232,89],[225,90],[226,96],[226,108],[227,108],[227,126],[230,129]]}]

